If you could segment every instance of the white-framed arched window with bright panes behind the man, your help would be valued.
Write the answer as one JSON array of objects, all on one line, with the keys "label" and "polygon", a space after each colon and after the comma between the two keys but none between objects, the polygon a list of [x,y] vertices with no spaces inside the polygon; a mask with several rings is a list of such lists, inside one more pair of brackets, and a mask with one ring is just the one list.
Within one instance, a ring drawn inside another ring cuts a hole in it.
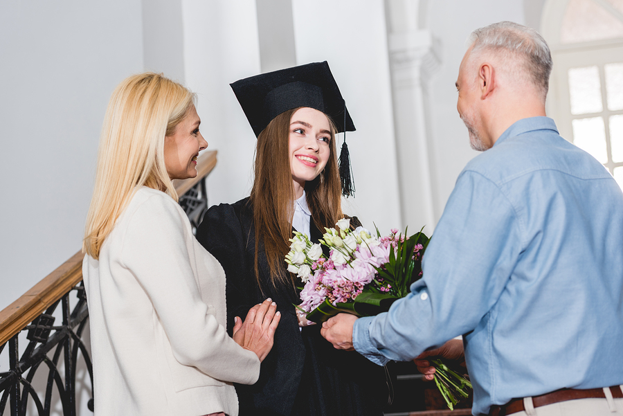
[{"label": "white-framed arched window with bright panes behind the man", "polygon": [[541,33],[554,60],[548,114],[623,188],[623,0],[548,0]]}]

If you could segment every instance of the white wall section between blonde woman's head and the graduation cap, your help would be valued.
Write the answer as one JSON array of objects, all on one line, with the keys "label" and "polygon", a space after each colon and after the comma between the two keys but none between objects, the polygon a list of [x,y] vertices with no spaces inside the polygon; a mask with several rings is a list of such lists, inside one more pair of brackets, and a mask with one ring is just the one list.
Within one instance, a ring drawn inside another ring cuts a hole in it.
[{"label": "white wall section between blonde woman's head and the graduation cap", "polygon": [[260,73],[255,0],[184,0],[186,84],[197,93],[197,113],[208,150],[218,163],[208,177],[208,204],[249,196],[255,135],[229,87]]}]

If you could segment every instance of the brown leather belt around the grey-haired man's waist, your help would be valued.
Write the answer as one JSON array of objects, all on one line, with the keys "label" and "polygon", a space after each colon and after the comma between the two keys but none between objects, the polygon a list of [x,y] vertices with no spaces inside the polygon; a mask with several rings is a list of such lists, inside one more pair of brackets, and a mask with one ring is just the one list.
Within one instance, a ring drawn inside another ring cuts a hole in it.
[{"label": "brown leather belt around the grey-haired man's waist", "polygon": [[[623,392],[619,386],[612,386],[610,388],[612,397],[615,399],[622,399]],[[575,399],[605,399],[604,389],[602,388],[589,388],[588,390],[575,390],[575,388],[561,388],[555,392],[547,393],[545,395],[533,396],[532,404],[535,408],[546,406],[548,404],[559,403],[560,401],[575,400]],[[489,416],[506,416],[513,413],[523,412],[522,399],[512,399],[503,406],[494,405],[489,410]]]}]

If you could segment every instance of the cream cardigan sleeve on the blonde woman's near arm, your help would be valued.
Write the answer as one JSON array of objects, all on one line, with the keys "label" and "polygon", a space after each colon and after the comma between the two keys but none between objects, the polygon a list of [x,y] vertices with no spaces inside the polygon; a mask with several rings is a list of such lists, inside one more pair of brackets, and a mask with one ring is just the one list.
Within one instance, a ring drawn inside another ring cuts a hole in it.
[{"label": "cream cardigan sleeve on the blonde woman's near arm", "polygon": [[189,253],[194,237],[187,221],[172,199],[147,199],[125,232],[123,266],[150,297],[177,361],[222,381],[255,383],[258,356],[235,343],[201,299]]}]

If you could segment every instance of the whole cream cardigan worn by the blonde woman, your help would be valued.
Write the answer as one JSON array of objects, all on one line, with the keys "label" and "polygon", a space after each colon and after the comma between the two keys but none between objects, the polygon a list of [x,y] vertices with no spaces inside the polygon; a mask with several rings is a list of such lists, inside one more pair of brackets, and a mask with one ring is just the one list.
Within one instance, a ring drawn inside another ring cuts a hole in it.
[{"label": "whole cream cardigan worn by the blonde woman", "polygon": [[171,197],[139,188],[82,273],[96,416],[237,415],[231,383],[260,361],[227,335],[224,271]]}]

